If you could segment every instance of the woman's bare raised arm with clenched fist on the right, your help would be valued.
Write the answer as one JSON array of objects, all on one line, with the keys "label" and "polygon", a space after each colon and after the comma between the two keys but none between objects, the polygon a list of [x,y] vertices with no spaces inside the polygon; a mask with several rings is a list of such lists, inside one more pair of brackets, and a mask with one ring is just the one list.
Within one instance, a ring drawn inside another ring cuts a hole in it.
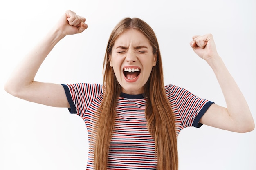
[{"label": "woman's bare raised arm with clenched fist on the right", "polygon": [[254,130],[254,120],[249,106],[218,55],[213,36],[211,34],[194,36],[190,45],[194,52],[206,60],[213,69],[227,104],[227,108],[212,104],[200,123],[240,133]]}]

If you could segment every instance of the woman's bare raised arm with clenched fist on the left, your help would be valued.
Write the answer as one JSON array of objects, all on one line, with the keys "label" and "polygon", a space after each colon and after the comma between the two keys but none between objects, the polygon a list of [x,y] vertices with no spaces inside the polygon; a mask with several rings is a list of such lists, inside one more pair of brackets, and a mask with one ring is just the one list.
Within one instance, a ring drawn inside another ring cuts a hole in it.
[{"label": "woman's bare raised arm with clenched fist on the left", "polygon": [[85,18],[68,10],[42,42],[28,53],[6,82],[4,89],[15,97],[54,107],[69,107],[62,85],[34,81],[36,73],[53,49],[66,35],[81,33],[87,28]]}]

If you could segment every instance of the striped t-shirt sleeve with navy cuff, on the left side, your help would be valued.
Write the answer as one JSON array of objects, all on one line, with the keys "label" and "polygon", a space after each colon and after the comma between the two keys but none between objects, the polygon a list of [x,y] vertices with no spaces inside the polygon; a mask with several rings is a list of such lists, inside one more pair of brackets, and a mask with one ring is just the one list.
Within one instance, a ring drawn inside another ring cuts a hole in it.
[{"label": "striped t-shirt sleeve with navy cuff, on the left side", "polygon": [[70,113],[84,117],[90,104],[99,96],[102,96],[103,90],[100,84],[61,84],[65,90],[67,100],[70,104],[68,108]]}]

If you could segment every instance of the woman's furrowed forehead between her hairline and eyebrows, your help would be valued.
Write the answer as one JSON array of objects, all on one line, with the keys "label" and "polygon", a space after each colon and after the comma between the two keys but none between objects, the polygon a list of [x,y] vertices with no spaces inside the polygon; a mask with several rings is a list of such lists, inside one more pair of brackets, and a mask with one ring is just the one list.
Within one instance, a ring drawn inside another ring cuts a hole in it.
[{"label": "woman's furrowed forehead between her hairline and eyebrows", "polygon": [[114,43],[114,48],[116,46],[147,46],[150,47],[149,40],[140,31],[136,29],[128,29],[121,33],[117,37]]}]

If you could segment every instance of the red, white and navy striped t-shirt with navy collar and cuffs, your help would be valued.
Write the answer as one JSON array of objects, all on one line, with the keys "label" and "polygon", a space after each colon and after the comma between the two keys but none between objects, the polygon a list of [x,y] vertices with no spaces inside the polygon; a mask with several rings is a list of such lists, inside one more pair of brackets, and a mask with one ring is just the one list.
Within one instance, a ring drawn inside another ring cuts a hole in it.
[{"label": "red, white and navy striped t-shirt with navy collar and cuffs", "polygon": [[[103,99],[100,84],[63,85],[70,104],[70,113],[83,118],[90,143],[92,130],[97,120],[97,109]],[[174,86],[165,86],[166,96],[173,110],[176,135],[183,128],[200,127],[200,118],[213,102],[201,99],[193,93]],[[155,170],[155,142],[151,137],[145,118],[146,98],[143,95],[121,93],[116,106],[116,123],[108,155],[109,170]],[[93,169],[93,149],[89,147],[87,170]]]}]

